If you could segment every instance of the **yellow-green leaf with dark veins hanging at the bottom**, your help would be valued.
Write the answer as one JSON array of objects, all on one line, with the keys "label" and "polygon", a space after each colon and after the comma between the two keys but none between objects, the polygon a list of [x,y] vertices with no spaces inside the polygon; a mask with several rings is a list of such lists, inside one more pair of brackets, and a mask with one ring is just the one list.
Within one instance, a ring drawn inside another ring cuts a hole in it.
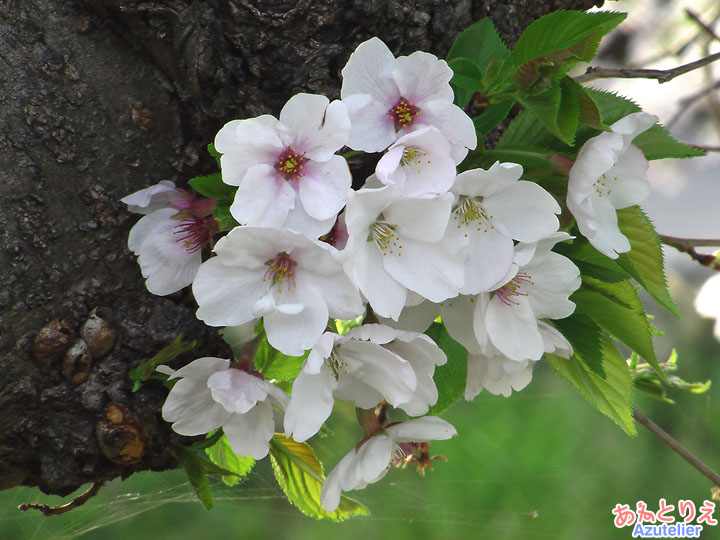
[{"label": "yellow-green leaf with dark veins hanging at the bottom", "polygon": [[270,461],[275,479],[288,500],[300,511],[317,519],[343,521],[352,516],[367,516],[368,509],[358,501],[343,495],[334,512],[320,507],[320,493],[325,473],[315,452],[306,443],[275,434],[270,441]]}]

